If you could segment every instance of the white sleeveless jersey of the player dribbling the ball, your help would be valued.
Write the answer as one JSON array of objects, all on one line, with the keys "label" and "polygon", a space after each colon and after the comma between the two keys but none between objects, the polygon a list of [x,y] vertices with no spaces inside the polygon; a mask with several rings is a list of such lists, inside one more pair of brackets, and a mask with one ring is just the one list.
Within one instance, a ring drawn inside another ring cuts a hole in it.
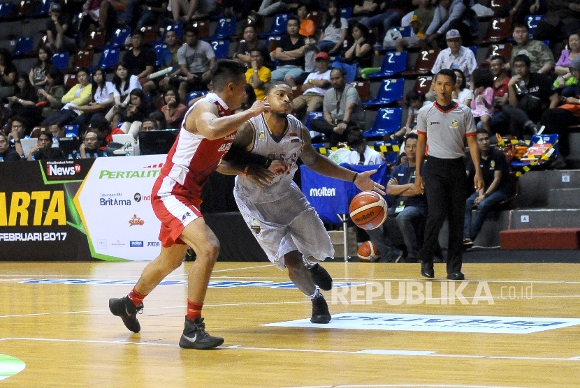
[{"label": "white sleeveless jersey of the player dribbling the ball", "polygon": [[275,177],[270,186],[260,187],[246,177],[236,177],[235,191],[250,202],[261,203],[279,200],[287,195],[293,184],[292,178],[298,169],[296,161],[302,152],[304,140],[302,138],[302,123],[291,115],[288,115],[287,120],[286,132],[281,137],[277,137],[268,128],[263,114],[249,119],[249,124],[254,128],[252,154],[266,156],[270,160],[282,160],[291,165],[289,174]]}]

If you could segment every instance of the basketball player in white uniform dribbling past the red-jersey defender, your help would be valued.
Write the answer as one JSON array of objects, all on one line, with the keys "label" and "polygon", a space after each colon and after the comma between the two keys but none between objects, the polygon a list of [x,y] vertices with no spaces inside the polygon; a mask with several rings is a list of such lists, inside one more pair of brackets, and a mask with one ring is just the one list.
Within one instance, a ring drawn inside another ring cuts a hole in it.
[{"label": "basketball player in white uniform dribbling past the red-jersey defender", "polygon": [[[234,197],[248,227],[254,232],[268,259],[280,269],[288,268],[290,280],[312,300],[314,323],[328,323],[331,315],[324,296],[316,287],[317,276],[309,271],[318,262],[332,258],[334,249],[317,212],[292,181],[300,158],[311,170],[351,181],[361,190],[384,194],[384,187],[370,179],[377,170],[357,174],[321,156],[312,147],[310,133],[291,116],[292,89],[287,84],[270,84],[264,101],[270,110],[249,119],[235,136],[233,147],[243,147],[254,156],[289,163],[287,173],[278,174],[269,184],[258,180],[260,169],[225,160],[218,167],[223,174],[236,174]],[[319,266],[318,266],[319,267]],[[326,270],[319,267],[319,271]],[[326,273],[328,274],[328,273]],[[328,276],[330,278],[330,276]],[[328,282],[330,290],[332,279]]]}]

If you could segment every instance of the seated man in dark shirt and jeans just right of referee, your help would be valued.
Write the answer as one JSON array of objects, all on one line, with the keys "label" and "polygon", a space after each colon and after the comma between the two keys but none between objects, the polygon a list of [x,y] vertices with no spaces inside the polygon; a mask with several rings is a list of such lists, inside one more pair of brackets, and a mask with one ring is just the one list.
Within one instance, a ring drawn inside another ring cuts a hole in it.
[{"label": "seated man in dark shirt and jeans just right of referee", "polygon": [[[512,193],[512,181],[509,178],[509,166],[502,151],[492,149],[489,133],[477,130],[477,148],[479,149],[479,167],[484,178],[484,187],[476,191],[465,202],[465,222],[463,223],[463,247],[470,248],[479,234],[488,212]],[[467,158],[467,177],[473,177],[475,168],[471,158]],[[475,217],[472,209],[477,207]]]}]

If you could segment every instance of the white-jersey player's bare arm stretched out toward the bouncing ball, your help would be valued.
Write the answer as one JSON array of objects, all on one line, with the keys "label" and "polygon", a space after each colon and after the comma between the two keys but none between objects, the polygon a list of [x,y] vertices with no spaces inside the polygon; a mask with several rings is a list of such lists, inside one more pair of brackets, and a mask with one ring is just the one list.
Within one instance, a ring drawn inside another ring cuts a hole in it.
[{"label": "white-jersey player's bare arm stretched out toward the bouncing ball", "polygon": [[316,149],[312,147],[310,132],[305,126],[302,126],[302,136],[304,145],[302,154],[300,154],[300,159],[308,168],[310,168],[310,170],[318,172],[326,177],[341,179],[342,181],[351,181],[362,191],[374,190],[377,193],[384,195],[384,186],[370,179],[370,176],[375,174],[377,170],[365,171],[358,174],[345,167],[341,167],[340,165],[333,163],[330,159],[319,154]]}]

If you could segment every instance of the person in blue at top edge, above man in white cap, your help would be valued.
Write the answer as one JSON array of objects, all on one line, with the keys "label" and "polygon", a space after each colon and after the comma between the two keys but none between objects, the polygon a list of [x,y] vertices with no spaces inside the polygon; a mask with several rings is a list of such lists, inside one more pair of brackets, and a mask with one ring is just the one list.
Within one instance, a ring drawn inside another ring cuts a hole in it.
[{"label": "person in blue at top edge, above man in white cap", "polygon": [[470,9],[471,3],[469,0],[441,0],[435,8],[433,22],[425,31],[426,43],[438,48],[443,45],[442,38],[447,38],[447,31],[457,30],[463,43],[470,46],[479,28]]}]

